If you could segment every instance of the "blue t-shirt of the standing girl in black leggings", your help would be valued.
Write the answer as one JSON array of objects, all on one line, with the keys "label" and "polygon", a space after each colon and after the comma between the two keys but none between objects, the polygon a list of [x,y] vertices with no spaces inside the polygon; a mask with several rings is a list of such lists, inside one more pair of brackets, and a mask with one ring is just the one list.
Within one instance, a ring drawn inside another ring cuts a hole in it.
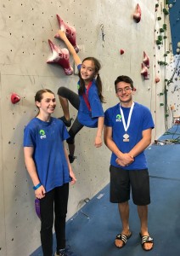
[{"label": "blue t-shirt of the standing girl in black leggings", "polygon": [[33,147],[37,175],[46,192],[70,182],[63,141],[69,136],[64,123],[55,118],[49,122],[31,119],[25,127],[24,147]]}]

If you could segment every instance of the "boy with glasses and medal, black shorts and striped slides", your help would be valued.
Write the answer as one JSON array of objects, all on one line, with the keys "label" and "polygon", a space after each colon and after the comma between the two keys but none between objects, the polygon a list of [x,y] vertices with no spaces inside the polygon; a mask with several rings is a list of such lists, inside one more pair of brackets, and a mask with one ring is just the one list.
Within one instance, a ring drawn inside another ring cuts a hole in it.
[{"label": "boy with glasses and medal, black shorts and striped slides", "polygon": [[122,229],[115,237],[115,246],[124,247],[132,236],[129,228],[129,204],[138,207],[139,236],[143,250],[153,248],[153,238],[148,230],[148,205],[150,203],[149,172],[144,149],[151,143],[155,127],[149,108],[133,102],[133,82],[127,76],[115,80],[115,93],[120,103],[105,111],[104,143],[110,151],[110,201],[118,203]]}]

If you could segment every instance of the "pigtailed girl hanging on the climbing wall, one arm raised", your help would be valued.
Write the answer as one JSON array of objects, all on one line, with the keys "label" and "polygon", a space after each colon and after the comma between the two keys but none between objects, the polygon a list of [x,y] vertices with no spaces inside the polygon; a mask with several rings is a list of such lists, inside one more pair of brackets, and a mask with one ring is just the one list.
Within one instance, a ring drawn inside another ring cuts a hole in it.
[{"label": "pigtailed girl hanging on the climbing wall, one arm raised", "polygon": [[72,120],[70,119],[69,102],[78,110],[76,120],[70,127],[70,138],[66,140],[70,151],[70,163],[72,163],[76,158],[74,156],[74,138],[76,133],[80,131],[84,125],[90,128],[98,127],[94,146],[96,148],[102,146],[102,131],[104,127],[102,102],[104,102],[104,96],[102,95],[102,82],[98,73],[101,65],[99,61],[93,57],[87,57],[81,61],[76,54],[76,50],[70,44],[68,38],[66,38],[65,32],[59,30],[59,37],[70,50],[70,54],[73,56],[79,71],[78,95],[66,87],[60,87],[58,90],[59,102],[64,112],[64,116],[60,119],[63,120],[67,127],[70,127]]}]

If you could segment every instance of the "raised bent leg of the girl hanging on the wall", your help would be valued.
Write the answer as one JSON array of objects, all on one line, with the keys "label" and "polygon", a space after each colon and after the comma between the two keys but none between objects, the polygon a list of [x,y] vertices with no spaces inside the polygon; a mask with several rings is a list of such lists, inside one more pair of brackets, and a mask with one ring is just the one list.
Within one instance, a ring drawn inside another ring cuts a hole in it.
[{"label": "raised bent leg of the girl hanging on the wall", "polygon": [[60,119],[65,123],[66,126],[70,127],[71,119],[70,119],[70,110],[69,110],[69,102],[70,104],[78,110],[80,100],[79,96],[72,90],[66,87],[59,87],[58,90],[59,102],[63,109],[64,116]]}]

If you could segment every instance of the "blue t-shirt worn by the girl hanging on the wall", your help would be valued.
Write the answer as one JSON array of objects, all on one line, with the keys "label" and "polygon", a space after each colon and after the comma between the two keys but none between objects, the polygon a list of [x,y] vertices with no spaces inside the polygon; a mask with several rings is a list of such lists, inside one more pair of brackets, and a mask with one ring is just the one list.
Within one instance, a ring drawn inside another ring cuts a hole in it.
[{"label": "blue t-shirt worn by the girl hanging on the wall", "polygon": [[[82,65],[78,65],[78,70],[81,69]],[[79,86],[79,82],[78,82]],[[85,89],[85,93],[87,89]],[[104,117],[104,110],[102,107],[102,103],[98,96],[98,88],[96,86],[96,80],[93,79],[93,83],[88,90],[88,102],[91,107],[91,111],[87,108],[87,104],[84,101],[83,96],[79,96],[80,98],[80,106],[78,109],[77,119],[78,121],[87,127],[95,128],[98,127],[98,117]]]}]

